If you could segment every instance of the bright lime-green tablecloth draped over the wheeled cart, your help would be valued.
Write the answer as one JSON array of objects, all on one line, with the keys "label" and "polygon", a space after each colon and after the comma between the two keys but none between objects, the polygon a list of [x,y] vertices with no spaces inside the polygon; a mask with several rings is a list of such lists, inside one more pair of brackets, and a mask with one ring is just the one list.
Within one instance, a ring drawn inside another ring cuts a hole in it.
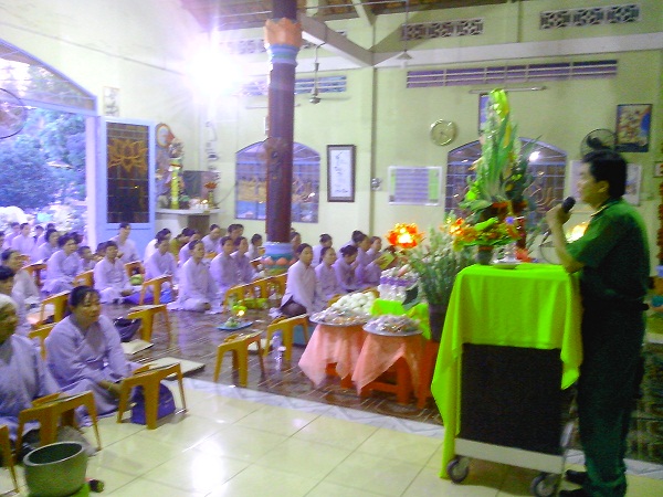
[{"label": "bright lime-green tablecloth draped over the wheeled cart", "polygon": [[576,381],[582,361],[580,318],[577,278],[561,266],[473,265],[459,274],[431,385],[444,422],[440,476],[448,477],[455,456],[463,343],[560,349],[564,389]]}]

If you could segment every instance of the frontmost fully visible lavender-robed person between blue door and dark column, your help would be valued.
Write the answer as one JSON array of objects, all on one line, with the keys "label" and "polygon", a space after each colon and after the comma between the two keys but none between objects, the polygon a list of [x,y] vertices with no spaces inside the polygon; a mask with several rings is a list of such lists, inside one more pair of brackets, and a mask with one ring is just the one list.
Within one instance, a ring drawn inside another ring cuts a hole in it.
[{"label": "frontmost fully visible lavender-robed person between blue door and dark column", "polygon": [[178,304],[185,310],[202,313],[210,310],[212,304],[218,305],[218,290],[210,275],[204,258],[204,245],[194,240],[189,243],[191,257],[185,263],[179,275]]}]

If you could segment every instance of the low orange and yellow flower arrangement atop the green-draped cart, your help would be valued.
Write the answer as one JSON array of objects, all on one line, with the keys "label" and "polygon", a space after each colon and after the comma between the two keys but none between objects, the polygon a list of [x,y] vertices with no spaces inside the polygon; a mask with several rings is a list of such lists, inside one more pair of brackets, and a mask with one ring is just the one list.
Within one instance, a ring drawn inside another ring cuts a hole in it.
[{"label": "low orange and yellow flower arrangement atop the green-draped cart", "polygon": [[490,218],[476,224],[457,219],[449,230],[455,247],[506,245],[520,237],[513,216],[507,216],[504,221],[498,218]]}]

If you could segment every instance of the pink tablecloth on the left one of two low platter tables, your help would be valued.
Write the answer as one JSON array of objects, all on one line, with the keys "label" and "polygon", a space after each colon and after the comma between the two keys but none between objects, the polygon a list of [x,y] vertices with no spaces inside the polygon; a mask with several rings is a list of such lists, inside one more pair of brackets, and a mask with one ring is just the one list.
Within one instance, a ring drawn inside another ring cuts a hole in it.
[{"label": "pink tablecloth on the left one of two low platter tables", "polygon": [[334,362],[338,376],[345,378],[355,370],[365,337],[361,326],[317,325],[299,359],[299,368],[316,387],[325,380],[327,364]]}]

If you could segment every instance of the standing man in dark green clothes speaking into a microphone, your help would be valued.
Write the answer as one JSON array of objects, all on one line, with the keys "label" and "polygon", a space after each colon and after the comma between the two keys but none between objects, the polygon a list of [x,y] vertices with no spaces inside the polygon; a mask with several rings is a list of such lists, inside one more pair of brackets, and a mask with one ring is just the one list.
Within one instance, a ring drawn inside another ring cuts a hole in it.
[{"label": "standing man in dark green clothes speaking into a microphone", "polygon": [[582,487],[560,496],[627,494],[625,438],[640,381],[650,257],[642,218],[622,199],[625,183],[624,159],[597,150],[583,158],[578,180],[580,199],[594,210],[582,237],[566,241],[570,214],[561,204],[546,213],[561,265],[580,272],[583,307],[578,416],[587,473],[568,470],[566,478]]}]

